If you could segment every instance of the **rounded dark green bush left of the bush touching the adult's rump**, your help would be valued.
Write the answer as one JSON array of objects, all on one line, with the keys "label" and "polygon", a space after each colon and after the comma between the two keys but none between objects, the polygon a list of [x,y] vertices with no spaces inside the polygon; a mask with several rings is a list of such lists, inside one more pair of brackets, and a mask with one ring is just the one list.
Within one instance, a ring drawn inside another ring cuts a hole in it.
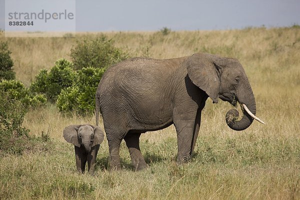
[{"label": "rounded dark green bush left of the bush touching the adult's rump", "polygon": [[72,69],[72,62],[58,59],[54,66],[47,71],[41,69],[30,85],[33,92],[44,93],[49,100],[55,101],[61,89],[73,85],[76,72]]}]

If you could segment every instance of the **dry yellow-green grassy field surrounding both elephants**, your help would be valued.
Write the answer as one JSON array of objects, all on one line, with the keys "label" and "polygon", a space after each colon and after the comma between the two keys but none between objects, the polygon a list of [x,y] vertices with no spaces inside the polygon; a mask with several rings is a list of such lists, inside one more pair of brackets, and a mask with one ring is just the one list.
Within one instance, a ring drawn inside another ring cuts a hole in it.
[{"label": "dry yellow-green grassy field surrounding both elephants", "polygon": [[[75,37],[19,37],[8,41],[16,78],[29,85],[41,68],[69,58]],[[120,171],[107,170],[106,139],[94,176],[78,175],[73,146],[62,137],[72,123],[94,124],[94,116],[65,117],[55,105],[30,110],[23,122],[31,135],[47,132],[47,151],[0,157],[0,198],[8,199],[300,199],[300,27],[222,31],[105,32],[132,56],[170,58],[196,51],[235,57],[243,65],[256,98],[254,121],[243,131],[225,123],[232,106],[207,99],[192,159],[175,164],[173,126],[141,135],[149,167],[135,172],[121,143]],[[100,122],[102,126],[102,122]]]}]

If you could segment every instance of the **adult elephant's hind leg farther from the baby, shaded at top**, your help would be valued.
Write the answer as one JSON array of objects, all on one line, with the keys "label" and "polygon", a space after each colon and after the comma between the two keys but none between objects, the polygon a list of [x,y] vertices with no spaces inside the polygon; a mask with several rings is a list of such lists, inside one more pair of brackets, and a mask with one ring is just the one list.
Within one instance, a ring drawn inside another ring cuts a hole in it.
[{"label": "adult elephant's hind leg farther from the baby, shaded at top", "polygon": [[139,149],[139,136],[140,133],[128,132],[124,137],[135,170],[141,170],[148,166]]}]

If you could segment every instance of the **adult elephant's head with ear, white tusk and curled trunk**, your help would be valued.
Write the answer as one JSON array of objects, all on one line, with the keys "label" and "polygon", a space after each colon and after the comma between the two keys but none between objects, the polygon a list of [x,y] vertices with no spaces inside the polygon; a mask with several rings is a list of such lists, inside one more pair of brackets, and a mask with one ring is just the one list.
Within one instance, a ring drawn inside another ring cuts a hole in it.
[{"label": "adult elephant's head with ear, white tusk and curled trunk", "polygon": [[187,73],[191,81],[204,90],[214,103],[218,98],[235,106],[238,101],[243,106],[243,116],[230,109],[226,113],[226,123],[233,130],[249,127],[255,116],[256,104],[246,73],[238,60],[219,57],[208,53],[194,53],[186,60]]}]

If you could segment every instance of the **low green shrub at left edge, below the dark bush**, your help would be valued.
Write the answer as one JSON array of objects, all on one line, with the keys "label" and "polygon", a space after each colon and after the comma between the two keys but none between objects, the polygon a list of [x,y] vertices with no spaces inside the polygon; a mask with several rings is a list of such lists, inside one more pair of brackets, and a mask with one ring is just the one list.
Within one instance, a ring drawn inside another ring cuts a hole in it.
[{"label": "low green shrub at left edge, below the dark bush", "polygon": [[0,90],[9,94],[11,99],[20,101],[26,108],[43,105],[47,100],[42,94],[30,93],[29,89],[18,80],[2,80]]}]

